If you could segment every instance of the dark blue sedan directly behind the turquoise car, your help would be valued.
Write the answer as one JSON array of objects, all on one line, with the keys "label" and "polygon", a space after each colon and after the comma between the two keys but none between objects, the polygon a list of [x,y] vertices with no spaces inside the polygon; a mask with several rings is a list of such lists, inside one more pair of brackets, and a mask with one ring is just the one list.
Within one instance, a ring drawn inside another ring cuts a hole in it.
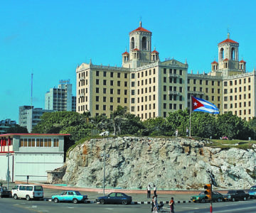
[{"label": "dark blue sedan directly behind the turquoise car", "polygon": [[125,195],[122,192],[112,192],[107,196],[98,197],[96,202],[100,202],[100,204],[131,204],[132,197]]}]

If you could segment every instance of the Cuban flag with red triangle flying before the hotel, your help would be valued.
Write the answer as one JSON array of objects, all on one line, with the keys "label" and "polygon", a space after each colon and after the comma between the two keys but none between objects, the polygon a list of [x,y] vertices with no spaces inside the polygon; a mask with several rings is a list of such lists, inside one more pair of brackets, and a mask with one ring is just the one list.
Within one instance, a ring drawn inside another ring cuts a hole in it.
[{"label": "Cuban flag with red triangle flying before the hotel", "polygon": [[192,99],[192,111],[203,111],[211,114],[219,114],[219,109],[210,102],[207,102],[204,99],[199,99],[197,97],[191,96]]}]

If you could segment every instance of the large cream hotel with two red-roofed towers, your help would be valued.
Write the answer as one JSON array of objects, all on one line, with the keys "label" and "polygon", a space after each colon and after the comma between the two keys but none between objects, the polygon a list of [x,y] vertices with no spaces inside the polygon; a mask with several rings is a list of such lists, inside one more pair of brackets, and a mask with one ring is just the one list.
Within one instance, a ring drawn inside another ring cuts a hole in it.
[{"label": "large cream hotel with two red-roofed towers", "polygon": [[152,33],[142,27],[129,33],[129,53],[122,53],[122,67],[82,63],[76,68],[76,111],[105,114],[118,105],[142,120],[190,107],[190,97],[215,104],[220,114],[232,111],[242,119],[255,116],[255,75],[238,60],[239,43],[228,38],[218,43],[218,61],[206,74],[189,74],[187,62],[159,59],[151,50]]}]

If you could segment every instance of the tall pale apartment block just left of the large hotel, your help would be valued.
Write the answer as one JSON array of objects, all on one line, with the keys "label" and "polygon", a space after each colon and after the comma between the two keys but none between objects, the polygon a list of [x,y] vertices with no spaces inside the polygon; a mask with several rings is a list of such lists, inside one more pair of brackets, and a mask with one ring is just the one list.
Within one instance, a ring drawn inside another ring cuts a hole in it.
[{"label": "tall pale apartment block just left of the large hotel", "polygon": [[45,109],[75,111],[75,105],[70,80],[60,80],[57,88],[50,88],[50,91],[46,92]]}]

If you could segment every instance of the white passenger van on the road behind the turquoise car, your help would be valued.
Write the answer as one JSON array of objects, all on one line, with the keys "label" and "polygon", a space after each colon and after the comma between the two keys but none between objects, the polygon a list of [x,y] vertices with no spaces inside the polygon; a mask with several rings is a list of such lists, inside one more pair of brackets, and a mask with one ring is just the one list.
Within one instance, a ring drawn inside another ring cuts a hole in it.
[{"label": "white passenger van on the road behind the turquoise car", "polygon": [[41,185],[19,184],[12,188],[11,195],[14,199],[26,198],[26,200],[43,198],[43,187]]}]

